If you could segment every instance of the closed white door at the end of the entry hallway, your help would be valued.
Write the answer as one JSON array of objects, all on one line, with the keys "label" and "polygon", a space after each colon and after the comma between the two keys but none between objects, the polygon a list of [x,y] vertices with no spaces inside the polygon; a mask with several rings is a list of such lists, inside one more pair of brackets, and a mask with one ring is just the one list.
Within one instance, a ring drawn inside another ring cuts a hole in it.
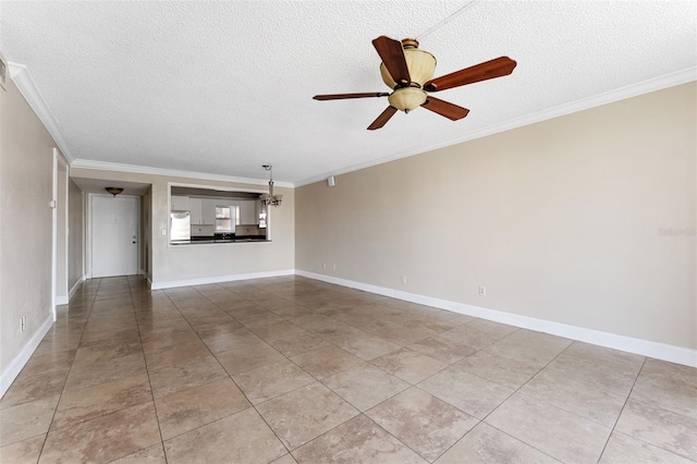
[{"label": "closed white door at the end of the entry hallway", "polygon": [[140,198],[93,196],[91,276],[138,273]]}]

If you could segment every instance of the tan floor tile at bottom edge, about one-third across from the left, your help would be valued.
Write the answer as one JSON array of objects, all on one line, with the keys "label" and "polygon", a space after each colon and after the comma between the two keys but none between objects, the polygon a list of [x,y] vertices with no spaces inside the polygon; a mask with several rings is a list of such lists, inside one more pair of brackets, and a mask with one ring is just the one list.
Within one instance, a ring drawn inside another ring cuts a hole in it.
[{"label": "tan floor tile at bottom edge, about one-third across from the left", "polygon": [[268,463],[286,453],[252,407],[166,441],[164,451],[169,464]]}]

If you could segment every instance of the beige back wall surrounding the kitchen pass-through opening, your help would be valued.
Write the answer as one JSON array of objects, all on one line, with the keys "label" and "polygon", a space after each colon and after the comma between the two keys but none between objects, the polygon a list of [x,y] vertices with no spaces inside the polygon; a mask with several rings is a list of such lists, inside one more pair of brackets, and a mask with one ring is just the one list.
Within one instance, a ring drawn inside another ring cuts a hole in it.
[{"label": "beige back wall surrounding the kitchen pass-through opening", "polygon": [[71,169],[71,175],[151,184],[151,229],[147,233],[150,239],[150,279],[154,285],[294,268],[295,223],[292,188],[276,187],[276,191],[283,195],[283,205],[272,210],[271,243],[170,246],[168,235],[161,233],[162,230],[169,229],[168,182],[258,192],[265,192],[266,186],[81,168]]}]

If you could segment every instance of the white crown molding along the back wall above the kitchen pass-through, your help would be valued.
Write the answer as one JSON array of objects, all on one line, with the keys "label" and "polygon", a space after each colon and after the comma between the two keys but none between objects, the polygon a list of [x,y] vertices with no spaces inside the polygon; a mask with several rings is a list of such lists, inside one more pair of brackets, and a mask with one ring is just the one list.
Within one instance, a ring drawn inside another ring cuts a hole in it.
[{"label": "white crown molding along the back wall above the kitchen pass-through", "polygon": [[[166,178],[203,179],[206,181],[232,182],[239,184],[268,185],[266,179],[237,178],[233,175],[209,174],[206,172],[179,171],[175,169],[151,168],[137,164],[122,164],[119,162],[91,161],[88,159],[76,159],[71,162],[71,168],[94,169],[99,171],[130,172],[134,174],[162,175]],[[292,182],[273,181],[277,187],[294,188]]]}]

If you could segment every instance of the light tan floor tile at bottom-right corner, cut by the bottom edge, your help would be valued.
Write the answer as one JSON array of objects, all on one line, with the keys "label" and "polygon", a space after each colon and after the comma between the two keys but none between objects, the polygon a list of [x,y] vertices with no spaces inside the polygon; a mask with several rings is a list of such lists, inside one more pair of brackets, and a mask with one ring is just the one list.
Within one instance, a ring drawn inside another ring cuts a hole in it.
[{"label": "light tan floor tile at bottom-right corner, cut by the bottom edge", "polygon": [[624,463],[690,464],[694,463],[694,461],[686,460],[677,454],[673,454],[624,434],[613,431],[602,452],[599,464]]}]

